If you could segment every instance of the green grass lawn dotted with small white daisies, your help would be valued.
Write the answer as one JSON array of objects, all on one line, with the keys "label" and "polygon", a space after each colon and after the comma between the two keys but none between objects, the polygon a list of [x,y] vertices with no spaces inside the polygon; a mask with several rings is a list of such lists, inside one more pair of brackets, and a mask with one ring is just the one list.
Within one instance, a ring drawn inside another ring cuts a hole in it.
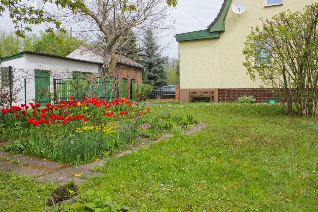
[{"label": "green grass lawn dotted with small white daisies", "polygon": [[[110,160],[98,169],[105,175],[82,184],[79,193],[93,188],[154,211],[318,209],[317,117],[281,115],[279,105],[263,104],[152,107],[152,114],[162,111],[191,114],[209,125]],[[47,185],[0,175],[0,208],[44,206]]]}]

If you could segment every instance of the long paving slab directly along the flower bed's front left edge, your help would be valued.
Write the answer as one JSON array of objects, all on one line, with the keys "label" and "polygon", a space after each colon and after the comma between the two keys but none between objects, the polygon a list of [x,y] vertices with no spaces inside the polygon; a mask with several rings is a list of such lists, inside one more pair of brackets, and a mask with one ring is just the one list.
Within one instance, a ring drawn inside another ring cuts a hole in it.
[{"label": "long paving slab directly along the flower bed's front left edge", "polygon": [[12,158],[18,160],[20,163],[26,163],[31,165],[31,167],[39,169],[47,169],[48,171],[54,171],[62,166],[65,166],[63,163],[47,160],[47,159],[38,159],[29,157],[22,154],[16,154]]}]

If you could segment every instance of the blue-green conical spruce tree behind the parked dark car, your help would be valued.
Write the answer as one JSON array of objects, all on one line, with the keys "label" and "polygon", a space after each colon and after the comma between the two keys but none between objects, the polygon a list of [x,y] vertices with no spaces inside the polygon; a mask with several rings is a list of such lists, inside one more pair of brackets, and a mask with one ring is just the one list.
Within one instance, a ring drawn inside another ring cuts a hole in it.
[{"label": "blue-green conical spruce tree behind the parked dark car", "polygon": [[168,57],[162,56],[160,45],[157,44],[151,32],[146,33],[141,50],[139,62],[145,67],[142,83],[150,84],[155,88],[167,85],[168,79],[164,66]]}]

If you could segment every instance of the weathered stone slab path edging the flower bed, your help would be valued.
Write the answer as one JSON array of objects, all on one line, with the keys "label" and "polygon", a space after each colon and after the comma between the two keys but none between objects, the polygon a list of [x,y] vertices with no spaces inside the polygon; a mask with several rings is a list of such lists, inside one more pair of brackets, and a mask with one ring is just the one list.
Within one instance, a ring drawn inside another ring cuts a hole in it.
[{"label": "weathered stone slab path edging the flower bed", "polygon": [[[201,123],[198,126],[194,126],[184,132],[186,135],[190,135],[201,131],[207,126],[206,123]],[[163,139],[171,138],[170,134],[164,134],[159,138],[149,141],[146,138],[139,139],[139,145],[135,146],[132,150],[138,151],[141,147],[147,147],[152,143],[158,143]],[[132,153],[131,149],[122,151],[119,154],[115,154],[112,158],[120,158],[125,154]],[[109,159],[112,159],[109,158]],[[107,163],[107,159],[98,159],[93,163],[80,165],[78,167],[72,167],[68,164],[63,164],[47,159],[39,159],[32,156],[23,154],[8,155],[7,152],[0,150],[0,168],[6,172],[13,172],[17,175],[24,175],[34,180],[42,182],[60,183],[74,180],[75,184],[81,184],[84,181],[89,180],[94,176],[102,176],[103,173],[93,171],[96,166],[103,166]],[[74,176],[75,174],[82,174],[80,177]]]}]

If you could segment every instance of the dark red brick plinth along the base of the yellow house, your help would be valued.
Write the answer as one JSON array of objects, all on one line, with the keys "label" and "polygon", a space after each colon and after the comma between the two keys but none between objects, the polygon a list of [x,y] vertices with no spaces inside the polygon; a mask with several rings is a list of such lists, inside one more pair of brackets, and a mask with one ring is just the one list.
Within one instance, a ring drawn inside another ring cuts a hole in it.
[{"label": "dark red brick plinth along the base of the yellow house", "polygon": [[[275,95],[271,93],[273,89],[270,88],[219,88],[218,102],[234,102],[238,97],[246,94],[256,97],[256,102],[268,102],[269,100],[276,100]],[[295,90],[292,90],[295,94]]]}]

